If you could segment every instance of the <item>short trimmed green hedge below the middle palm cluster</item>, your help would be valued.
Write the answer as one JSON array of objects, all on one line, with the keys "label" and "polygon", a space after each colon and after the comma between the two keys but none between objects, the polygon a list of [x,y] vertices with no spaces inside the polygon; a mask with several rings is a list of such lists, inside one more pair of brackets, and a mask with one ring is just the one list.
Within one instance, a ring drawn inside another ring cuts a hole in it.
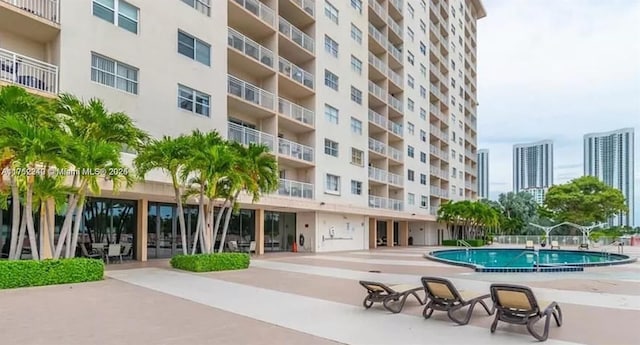
[{"label": "short trimmed green hedge below the middle palm cluster", "polygon": [[245,253],[176,255],[171,258],[171,267],[191,272],[242,270],[249,267],[249,261]]}]

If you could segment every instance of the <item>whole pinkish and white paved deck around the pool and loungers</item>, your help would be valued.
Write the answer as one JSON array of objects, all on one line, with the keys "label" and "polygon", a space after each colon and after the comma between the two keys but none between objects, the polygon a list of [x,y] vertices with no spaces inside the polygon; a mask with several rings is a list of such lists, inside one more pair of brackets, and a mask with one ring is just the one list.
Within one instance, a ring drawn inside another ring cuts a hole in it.
[{"label": "whole pinkish and white paved deck around the pool and loungers", "polygon": [[[166,260],[110,265],[101,282],[0,291],[0,334],[25,345],[536,343],[523,327],[501,324],[491,334],[492,317],[481,308],[467,326],[438,312],[424,320],[413,301],[400,314],[362,308],[360,279],[419,284],[433,275],[474,291],[498,281],[528,285],[539,299],[557,301],[565,324],[551,327],[546,344],[637,344],[637,262],[576,273],[478,273],[422,257],[433,249],[272,254],[253,258],[248,270],[203,274],[172,270]],[[638,257],[640,248],[625,254]]]}]

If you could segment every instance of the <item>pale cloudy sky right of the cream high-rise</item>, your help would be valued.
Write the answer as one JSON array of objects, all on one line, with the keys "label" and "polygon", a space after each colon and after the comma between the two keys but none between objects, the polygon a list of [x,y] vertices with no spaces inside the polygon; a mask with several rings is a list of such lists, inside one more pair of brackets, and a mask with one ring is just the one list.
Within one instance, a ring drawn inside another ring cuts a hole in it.
[{"label": "pale cloudy sky right of the cream high-rise", "polygon": [[582,176],[583,136],[635,128],[640,225],[640,0],[482,0],[478,148],[490,197],[512,190],[513,145],[554,141],[554,183]]}]

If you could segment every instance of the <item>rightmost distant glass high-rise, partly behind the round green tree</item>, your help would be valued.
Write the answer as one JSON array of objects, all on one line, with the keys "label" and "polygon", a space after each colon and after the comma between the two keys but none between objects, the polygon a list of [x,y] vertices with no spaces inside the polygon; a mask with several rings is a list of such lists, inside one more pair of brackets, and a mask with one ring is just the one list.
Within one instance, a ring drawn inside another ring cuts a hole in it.
[{"label": "rightmost distant glass high-rise, partly behind the round green tree", "polygon": [[629,213],[614,216],[612,226],[634,226],[634,130],[623,128],[584,136],[584,174],[595,176],[624,195]]}]

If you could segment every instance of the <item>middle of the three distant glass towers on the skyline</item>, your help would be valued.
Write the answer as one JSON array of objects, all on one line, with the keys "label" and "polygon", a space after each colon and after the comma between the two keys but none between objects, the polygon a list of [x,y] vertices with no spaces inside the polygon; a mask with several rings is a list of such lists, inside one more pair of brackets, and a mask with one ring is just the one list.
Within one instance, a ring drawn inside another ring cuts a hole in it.
[{"label": "middle of the three distant glass towers on the skyline", "polygon": [[513,146],[513,191],[553,185],[553,141]]}]

